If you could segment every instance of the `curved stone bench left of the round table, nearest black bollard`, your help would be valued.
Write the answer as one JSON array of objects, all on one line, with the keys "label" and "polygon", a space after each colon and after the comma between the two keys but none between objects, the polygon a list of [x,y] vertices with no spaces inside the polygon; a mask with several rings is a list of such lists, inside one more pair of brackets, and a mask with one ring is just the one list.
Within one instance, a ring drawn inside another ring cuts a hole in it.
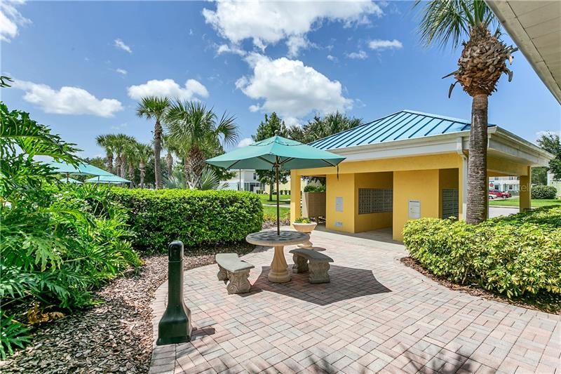
[{"label": "curved stone bench left of the round table, nearest black bollard", "polygon": [[218,253],[215,260],[219,268],[218,280],[229,281],[226,286],[228,293],[250,292],[251,283],[248,278],[250,269],[255,266],[240,260],[236,253]]}]

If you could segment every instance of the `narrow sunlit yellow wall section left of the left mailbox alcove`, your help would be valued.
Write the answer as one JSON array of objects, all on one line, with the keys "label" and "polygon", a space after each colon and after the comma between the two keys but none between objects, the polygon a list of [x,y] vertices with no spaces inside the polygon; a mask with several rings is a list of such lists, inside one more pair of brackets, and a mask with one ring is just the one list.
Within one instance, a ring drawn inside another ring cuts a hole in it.
[{"label": "narrow sunlit yellow wall section left of the left mailbox alcove", "polygon": [[[331,230],[355,232],[355,176],[354,174],[327,175],[325,187],[325,227]],[[335,211],[335,199],[343,198],[343,211]],[[342,222],[337,226],[336,222]]]}]

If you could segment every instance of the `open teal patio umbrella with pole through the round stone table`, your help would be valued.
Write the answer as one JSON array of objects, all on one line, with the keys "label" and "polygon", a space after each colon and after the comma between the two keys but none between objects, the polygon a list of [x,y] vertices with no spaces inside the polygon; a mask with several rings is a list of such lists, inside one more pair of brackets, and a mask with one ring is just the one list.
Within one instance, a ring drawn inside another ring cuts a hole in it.
[{"label": "open teal patio umbrella with pole through the round stone table", "polygon": [[278,203],[278,171],[337,166],[345,158],[275,135],[246,147],[208,159],[210,165],[225,169],[274,170],[276,176],[276,230],[280,235],[280,208]]}]

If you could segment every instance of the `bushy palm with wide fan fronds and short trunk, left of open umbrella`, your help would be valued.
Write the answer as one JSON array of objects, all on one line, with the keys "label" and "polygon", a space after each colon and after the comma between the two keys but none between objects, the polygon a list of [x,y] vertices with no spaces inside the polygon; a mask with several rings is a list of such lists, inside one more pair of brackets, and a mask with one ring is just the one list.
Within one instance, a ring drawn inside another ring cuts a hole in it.
[{"label": "bushy palm with wide fan fronds and short trunk, left of open umbrella", "polygon": [[[170,139],[187,151],[184,166],[186,179],[191,189],[201,189],[201,178],[205,168],[205,152],[217,146],[234,145],[238,140],[238,128],[234,116],[222,117],[201,102],[181,102],[170,105],[165,124]],[[221,142],[222,138],[222,142]]]}]

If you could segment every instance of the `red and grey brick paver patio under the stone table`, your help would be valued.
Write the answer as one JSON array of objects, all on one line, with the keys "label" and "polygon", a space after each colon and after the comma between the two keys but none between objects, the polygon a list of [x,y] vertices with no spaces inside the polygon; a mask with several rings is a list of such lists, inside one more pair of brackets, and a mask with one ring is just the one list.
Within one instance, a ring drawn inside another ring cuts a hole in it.
[{"label": "red and grey brick paver patio under the stone table", "polygon": [[401,264],[388,237],[313,232],[334,259],[327,284],[270,283],[272,248],[245,256],[248,294],[228,295],[217,265],[185,272],[193,340],[154,346],[151,373],[561,373],[560,316],[440,286]]}]

